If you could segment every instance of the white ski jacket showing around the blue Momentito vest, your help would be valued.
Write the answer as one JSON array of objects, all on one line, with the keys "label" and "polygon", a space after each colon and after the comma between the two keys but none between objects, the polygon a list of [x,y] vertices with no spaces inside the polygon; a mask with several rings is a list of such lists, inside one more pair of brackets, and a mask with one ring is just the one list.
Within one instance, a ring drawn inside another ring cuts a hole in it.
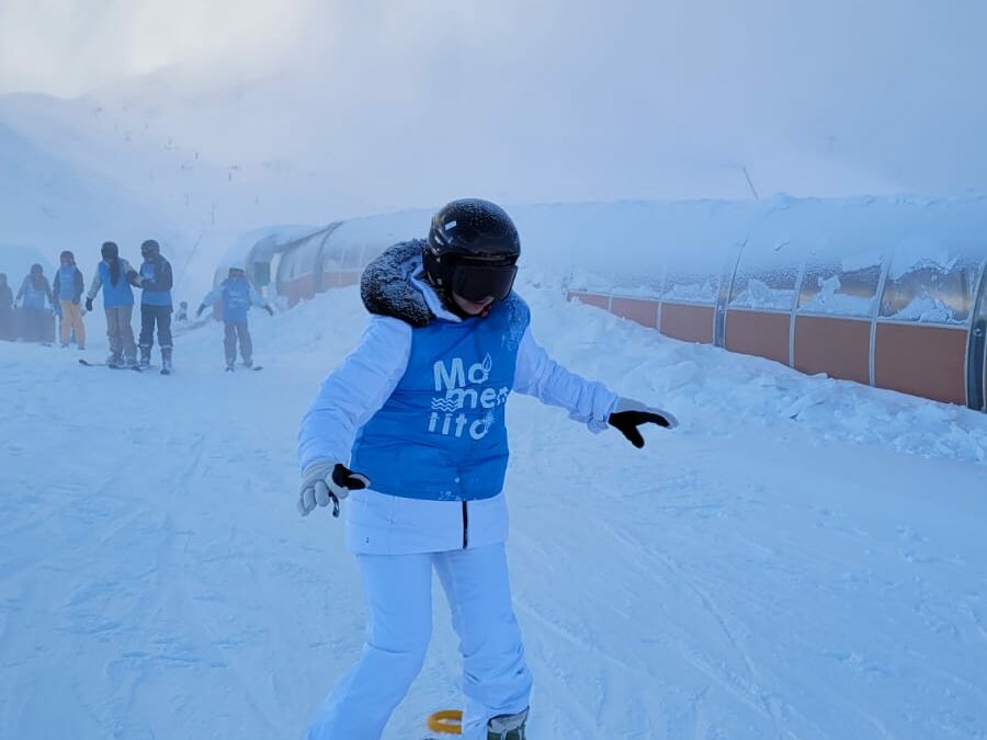
[{"label": "white ski jacket showing around the blue Momentito vest", "polygon": [[[461,321],[447,311],[421,280],[435,321]],[[302,420],[298,457],[302,470],[318,462],[344,465],[359,430],[384,406],[405,373],[415,329],[401,319],[373,316],[360,344],[322,382]],[[558,406],[592,432],[606,429],[617,396],[602,383],[588,382],[552,360],[526,330],[518,351],[513,390]],[[356,473],[360,473],[359,470]],[[373,555],[438,553],[481,547],[507,539],[508,511],[503,492],[479,501],[431,501],[352,491],[344,503],[347,544],[351,551]]]}]

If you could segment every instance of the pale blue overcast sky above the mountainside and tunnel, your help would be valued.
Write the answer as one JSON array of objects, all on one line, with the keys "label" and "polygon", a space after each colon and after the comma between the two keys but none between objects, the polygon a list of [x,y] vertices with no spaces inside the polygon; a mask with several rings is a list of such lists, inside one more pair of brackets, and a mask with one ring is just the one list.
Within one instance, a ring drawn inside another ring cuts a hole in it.
[{"label": "pale blue overcast sky above the mountainside and tunnel", "polygon": [[251,148],[310,152],[368,209],[745,197],[745,167],[942,193],[987,190],[985,30],[982,0],[0,0],[0,92],[280,72],[303,102]]}]

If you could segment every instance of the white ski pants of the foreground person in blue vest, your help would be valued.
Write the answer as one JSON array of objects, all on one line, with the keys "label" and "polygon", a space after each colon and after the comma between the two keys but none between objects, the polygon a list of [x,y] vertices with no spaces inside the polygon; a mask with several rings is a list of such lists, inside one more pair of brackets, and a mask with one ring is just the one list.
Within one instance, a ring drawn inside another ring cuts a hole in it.
[{"label": "white ski pants of the foreground person in blue vest", "polygon": [[[358,555],[366,599],[363,654],[339,681],[306,740],[378,740],[421,670],[432,634],[432,568],[463,657],[464,740],[486,740],[490,717],[523,711],[531,695],[502,543],[411,555]],[[422,717],[422,722],[424,717]]]}]

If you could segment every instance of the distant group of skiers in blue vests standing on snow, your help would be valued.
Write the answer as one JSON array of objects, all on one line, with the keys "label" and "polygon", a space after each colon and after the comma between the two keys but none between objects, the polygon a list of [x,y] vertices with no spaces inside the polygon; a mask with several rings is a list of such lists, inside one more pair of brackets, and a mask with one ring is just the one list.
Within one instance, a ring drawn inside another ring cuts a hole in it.
[{"label": "distant group of skiers in blue vests standing on snow", "polygon": [[[21,314],[20,337],[25,341],[45,341],[50,327],[48,306],[59,318],[61,346],[68,346],[75,339],[80,350],[86,349],[86,325],[82,317],[93,309],[93,300],[102,291],[103,308],[106,315],[106,337],[110,341],[111,367],[150,366],[151,350],[157,334],[161,351],[161,369],[172,368],[173,338],[171,331],[172,287],[174,278],[171,263],[161,254],[160,244],[148,239],[140,244],[143,262],[134,269],[129,261],[120,255],[116,242],[105,241],[100,249],[101,261],[84,291],[82,271],[76,265],[72,252],[66,250],[59,255],[59,267],[49,285],[41,264],[31,266],[20,291],[14,296],[8,285],[7,275],[0,273],[0,339],[18,339],[14,309]],[[134,288],[140,295],[140,334],[134,341],[132,328]],[[83,293],[86,297],[83,299]],[[247,273],[240,266],[232,266],[222,284],[211,291],[202,300],[196,316],[211,305],[218,303],[226,326],[224,353],[227,371],[234,369],[239,344],[243,365],[253,365],[253,345],[247,323],[250,306],[260,306],[269,314],[274,309],[247,281]],[[20,304],[20,306],[19,306]],[[178,321],[188,321],[188,304],[182,301],[175,316]],[[139,350],[139,356],[138,356]]]}]

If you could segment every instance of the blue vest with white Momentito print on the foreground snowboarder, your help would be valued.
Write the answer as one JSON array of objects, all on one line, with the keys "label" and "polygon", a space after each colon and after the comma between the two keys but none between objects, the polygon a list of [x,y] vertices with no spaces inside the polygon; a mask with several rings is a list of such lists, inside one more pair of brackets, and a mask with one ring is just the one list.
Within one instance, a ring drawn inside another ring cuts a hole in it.
[{"label": "blue vest with white Momentito print on the foreground snowboarder", "polygon": [[508,464],[504,403],[529,319],[527,305],[512,293],[485,318],[413,329],[404,376],[356,435],[353,469],[375,491],[409,499],[500,493]]}]

